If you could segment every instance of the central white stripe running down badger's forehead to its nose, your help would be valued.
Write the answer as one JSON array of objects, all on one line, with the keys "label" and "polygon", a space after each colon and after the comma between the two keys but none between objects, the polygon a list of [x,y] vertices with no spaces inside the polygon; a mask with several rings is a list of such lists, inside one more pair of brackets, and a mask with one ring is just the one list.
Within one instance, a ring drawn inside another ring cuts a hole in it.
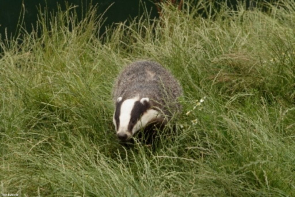
[{"label": "central white stripe running down badger's forehead to its nose", "polygon": [[131,111],[133,109],[134,103],[136,101],[139,100],[139,97],[134,97],[134,98],[130,98],[130,99],[126,99],[125,101],[123,101],[122,105],[121,105],[121,109],[120,109],[120,116],[119,116],[119,120],[120,120],[120,124],[119,124],[119,128],[117,131],[117,134],[119,132],[123,132],[128,134],[128,124],[130,122],[130,118],[131,118]]}]

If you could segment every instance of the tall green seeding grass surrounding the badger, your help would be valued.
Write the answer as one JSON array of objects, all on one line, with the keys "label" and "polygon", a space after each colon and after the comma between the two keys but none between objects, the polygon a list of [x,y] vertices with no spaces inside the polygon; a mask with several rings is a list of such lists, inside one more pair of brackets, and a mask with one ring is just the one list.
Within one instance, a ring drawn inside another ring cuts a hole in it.
[{"label": "tall green seeding grass surrounding the badger", "polygon": [[[1,193],[294,196],[294,1],[268,12],[200,2],[163,5],[160,19],[146,14],[103,38],[95,8],[78,21],[69,6],[2,41]],[[207,19],[204,6],[214,10]],[[127,148],[115,136],[111,91],[139,59],[178,78],[183,112],[153,146]]]}]

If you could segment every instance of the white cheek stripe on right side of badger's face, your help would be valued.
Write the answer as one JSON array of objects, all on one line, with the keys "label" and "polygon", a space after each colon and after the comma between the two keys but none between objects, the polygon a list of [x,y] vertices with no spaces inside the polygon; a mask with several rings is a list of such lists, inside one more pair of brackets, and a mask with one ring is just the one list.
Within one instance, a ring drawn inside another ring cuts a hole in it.
[{"label": "white cheek stripe on right side of badger's face", "polygon": [[148,109],[141,118],[137,121],[135,126],[132,129],[132,135],[135,134],[138,130],[141,128],[144,128],[148,123],[150,123],[153,120],[160,119],[161,116],[158,111],[154,109]]}]

